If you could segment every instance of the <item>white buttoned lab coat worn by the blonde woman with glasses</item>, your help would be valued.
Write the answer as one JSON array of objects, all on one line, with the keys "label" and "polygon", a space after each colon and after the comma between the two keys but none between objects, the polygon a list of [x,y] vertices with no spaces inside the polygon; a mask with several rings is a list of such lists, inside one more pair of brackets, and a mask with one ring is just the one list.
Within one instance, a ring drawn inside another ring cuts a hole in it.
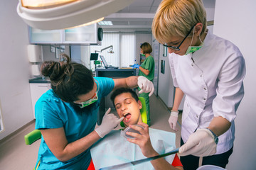
[{"label": "white buttoned lab coat worn by the blonde woman with glasses", "polygon": [[[191,60],[191,57],[193,60]],[[174,86],[185,94],[181,137],[183,142],[214,117],[231,123],[220,135],[216,154],[227,152],[235,140],[236,111],[244,96],[245,60],[232,42],[208,33],[200,50],[190,55],[169,54]]]}]

